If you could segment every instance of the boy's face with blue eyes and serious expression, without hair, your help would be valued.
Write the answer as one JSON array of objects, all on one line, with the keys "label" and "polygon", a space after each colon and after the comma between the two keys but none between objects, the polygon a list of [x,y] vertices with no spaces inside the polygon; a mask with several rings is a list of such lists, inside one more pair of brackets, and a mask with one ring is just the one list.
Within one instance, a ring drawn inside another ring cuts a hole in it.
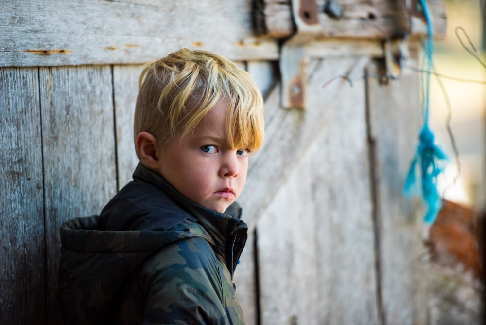
[{"label": "boy's face with blue eyes and serious expression, without hair", "polygon": [[218,212],[239,197],[248,169],[248,152],[227,141],[226,109],[226,101],[218,103],[194,132],[157,149],[160,174],[186,198]]}]

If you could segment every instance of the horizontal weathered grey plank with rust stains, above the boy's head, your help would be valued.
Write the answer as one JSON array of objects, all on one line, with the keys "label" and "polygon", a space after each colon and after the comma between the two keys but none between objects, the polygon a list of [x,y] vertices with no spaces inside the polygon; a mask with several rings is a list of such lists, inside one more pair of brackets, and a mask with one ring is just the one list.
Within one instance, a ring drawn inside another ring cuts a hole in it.
[{"label": "horizontal weathered grey plank with rust stains, above the boy's head", "polygon": [[252,1],[0,2],[0,66],[137,64],[181,47],[277,59],[252,32]]}]

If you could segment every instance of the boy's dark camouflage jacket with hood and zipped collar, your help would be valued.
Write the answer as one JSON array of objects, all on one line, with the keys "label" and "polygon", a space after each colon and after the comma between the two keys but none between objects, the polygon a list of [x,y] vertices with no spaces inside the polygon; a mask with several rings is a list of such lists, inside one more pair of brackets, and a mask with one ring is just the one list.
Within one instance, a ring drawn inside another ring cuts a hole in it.
[{"label": "boy's dark camouflage jacket with hood and zipped collar", "polygon": [[142,165],[133,178],[100,216],[61,227],[65,324],[245,324],[232,283],[241,209],[201,207]]}]

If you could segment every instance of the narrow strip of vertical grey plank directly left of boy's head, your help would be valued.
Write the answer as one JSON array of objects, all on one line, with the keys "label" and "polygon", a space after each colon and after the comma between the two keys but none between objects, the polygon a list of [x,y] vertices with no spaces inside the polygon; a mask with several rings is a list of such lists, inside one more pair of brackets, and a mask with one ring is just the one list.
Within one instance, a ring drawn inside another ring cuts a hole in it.
[{"label": "narrow strip of vertical grey plank directly left of boy's head", "polygon": [[142,66],[114,66],[113,87],[117,141],[118,189],[132,180],[139,160],[133,140],[133,116]]}]

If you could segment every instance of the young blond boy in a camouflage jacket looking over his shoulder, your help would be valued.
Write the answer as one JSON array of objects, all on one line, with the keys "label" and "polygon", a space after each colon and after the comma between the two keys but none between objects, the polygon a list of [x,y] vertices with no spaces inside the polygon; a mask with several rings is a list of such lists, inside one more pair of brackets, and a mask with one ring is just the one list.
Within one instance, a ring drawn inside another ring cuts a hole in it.
[{"label": "young blond boy in a camouflage jacket looking over his shoulder", "polygon": [[61,227],[66,324],[244,324],[232,283],[246,241],[235,200],[263,142],[249,74],[179,50],[140,76],[139,165],[99,217]]}]

